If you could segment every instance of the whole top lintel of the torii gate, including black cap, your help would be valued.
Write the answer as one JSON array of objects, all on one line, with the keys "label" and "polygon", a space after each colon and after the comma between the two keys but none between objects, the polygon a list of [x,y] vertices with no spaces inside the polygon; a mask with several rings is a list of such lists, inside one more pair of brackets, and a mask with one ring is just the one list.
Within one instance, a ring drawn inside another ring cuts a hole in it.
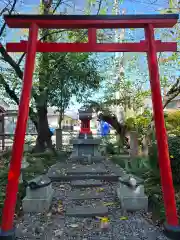
[{"label": "whole top lintel of the torii gate, including black cap", "polygon": [[179,18],[178,14],[157,15],[4,15],[10,28],[29,28],[36,23],[39,28],[171,28]]}]

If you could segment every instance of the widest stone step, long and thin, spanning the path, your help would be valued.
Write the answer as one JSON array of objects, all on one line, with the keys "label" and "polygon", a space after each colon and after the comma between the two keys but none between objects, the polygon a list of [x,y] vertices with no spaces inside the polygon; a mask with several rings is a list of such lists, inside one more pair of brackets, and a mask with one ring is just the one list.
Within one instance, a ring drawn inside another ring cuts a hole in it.
[{"label": "widest stone step, long and thin, spanning the path", "polygon": [[72,181],[72,180],[84,180],[84,179],[97,179],[117,182],[120,175],[115,174],[105,174],[105,175],[94,175],[94,174],[80,174],[80,175],[61,175],[61,174],[48,174],[48,177],[53,182],[60,181]]}]

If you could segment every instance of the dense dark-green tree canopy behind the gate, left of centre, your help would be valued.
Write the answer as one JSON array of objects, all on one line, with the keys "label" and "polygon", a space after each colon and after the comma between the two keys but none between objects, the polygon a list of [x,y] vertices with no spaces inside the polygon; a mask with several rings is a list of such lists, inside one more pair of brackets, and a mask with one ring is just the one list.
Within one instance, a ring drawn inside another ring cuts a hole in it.
[{"label": "dense dark-green tree canopy behind the gate, left of centre", "polygon": [[[51,41],[86,42],[87,31],[75,30],[63,32],[49,30],[52,33]],[[100,87],[102,77],[98,72],[98,61],[92,53],[46,53],[40,55],[36,68],[37,91],[41,90],[39,101],[42,104],[57,107],[62,121],[65,109],[70,104],[72,97],[78,102],[87,101]]]}]

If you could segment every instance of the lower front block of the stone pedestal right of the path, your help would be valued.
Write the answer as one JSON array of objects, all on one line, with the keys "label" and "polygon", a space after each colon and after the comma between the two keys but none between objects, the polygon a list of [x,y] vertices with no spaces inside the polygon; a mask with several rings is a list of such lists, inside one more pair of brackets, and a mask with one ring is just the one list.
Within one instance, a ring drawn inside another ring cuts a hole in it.
[{"label": "lower front block of the stone pedestal right of the path", "polygon": [[126,211],[148,211],[148,197],[122,197],[120,198],[121,208]]}]

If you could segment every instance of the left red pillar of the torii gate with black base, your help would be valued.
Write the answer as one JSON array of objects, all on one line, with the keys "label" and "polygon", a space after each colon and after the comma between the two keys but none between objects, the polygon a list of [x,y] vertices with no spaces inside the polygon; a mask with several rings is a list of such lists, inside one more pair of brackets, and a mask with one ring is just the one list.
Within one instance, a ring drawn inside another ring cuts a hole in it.
[{"label": "left red pillar of the torii gate with black base", "polygon": [[38,26],[33,23],[29,29],[29,40],[24,70],[23,88],[19,103],[18,119],[15,129],[14,144],[12,148],[12,158],[10,161],[10,169],[8,174],[8,184],[2,214],[0,239],[15,239],[13,219],[17,200],[21,160],[26,134],[26,125],[29,116],[29,103],[31,98],[32,79],[36,57],[37,37]]}]

